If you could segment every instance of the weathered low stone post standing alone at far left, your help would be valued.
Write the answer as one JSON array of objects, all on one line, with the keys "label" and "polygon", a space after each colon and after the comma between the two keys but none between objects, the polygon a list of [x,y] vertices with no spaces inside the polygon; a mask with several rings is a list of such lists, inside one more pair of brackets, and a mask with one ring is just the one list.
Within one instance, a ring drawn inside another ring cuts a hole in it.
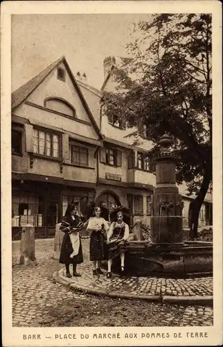
[{"label": "weathered low stone post standing alone at far left", "polygon": [[27,224],[21,230],[21,244],[18,264],[37,264],[35,259],[35,227]]}]

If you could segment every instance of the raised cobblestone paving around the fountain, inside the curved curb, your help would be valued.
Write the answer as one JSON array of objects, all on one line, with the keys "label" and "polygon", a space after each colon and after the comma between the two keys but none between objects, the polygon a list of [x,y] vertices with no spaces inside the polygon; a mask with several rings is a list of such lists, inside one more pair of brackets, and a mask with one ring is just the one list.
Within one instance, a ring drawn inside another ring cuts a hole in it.
[{"label": "raised cobblestone paving around the fountain, inside the curved curb", "polygon": [[[124,277],[112,274],[111,278],[106,276],[93,276],[92,266],[89,262],[89,255],[86,251],[88,240],[84,240],[85,258],[80,264],[78,271],[83,276],[80,278],[66,278],[64,269],[59,271],[61,278],[65,278],[68,283],[74,283],[77,287],[87,287],[88,289],[102,289],[107,292],[151,295],[151,296],[212,296],[213,278],[156,278],[156,277]],[[105,271],[106,275],[106,271]]]}]

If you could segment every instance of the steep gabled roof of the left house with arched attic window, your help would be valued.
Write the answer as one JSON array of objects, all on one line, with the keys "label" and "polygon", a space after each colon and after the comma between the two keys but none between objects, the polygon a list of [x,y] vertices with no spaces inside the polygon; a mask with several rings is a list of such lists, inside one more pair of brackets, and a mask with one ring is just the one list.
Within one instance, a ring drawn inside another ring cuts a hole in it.
[{"label": "steep gabled roof of the left house with arched attic window", "polygon": [[71,68],[69,67],[68,62],[66,61],[66,58],[62,56],[61,58],[55,60],[51,65],[48,65],[46,69],[41,71],[37,76],[30,79],[30,81],[26,82],[24,85],[21,85],[15,92],[12,92],[11,96],[11,106],[12,110],[17,108],[21,103],[24,103],[28,96],[44,81],[44,79],[61,63],[64,63],[66,70],[69,73],[69,76],[71,78],[71,81],[78,92],[78,96],[80,97],[80,100],[82,101],[82,104],[84,106],[84,110],[87,112],[87,115],[89,116],[89,119],[91,119],[91,123],[93,125],[93,128],[96,130],[96,133],[99,135],[100,139],[103,139],[102,133],[100,132],[100,128],[98,127],[96,120],[94,119],[93,115],[91,114],[91,110],[89,109],[89,106],[87,105],[86,100],[84,99],[84,96],[80,90],[80,87],[75,81],[75,78],[73,76],[73,73],[71,71]]}]

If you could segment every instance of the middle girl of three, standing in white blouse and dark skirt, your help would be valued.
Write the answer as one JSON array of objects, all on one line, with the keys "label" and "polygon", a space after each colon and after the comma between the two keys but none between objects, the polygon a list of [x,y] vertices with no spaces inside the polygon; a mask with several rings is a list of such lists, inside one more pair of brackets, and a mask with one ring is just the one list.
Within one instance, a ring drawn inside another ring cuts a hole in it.
[{"label": "middle girl of three, standing in white blouse and dark skirt", "polygon": [[93,264],[93,275],[102,273],[101,261],[107,259],[106,233],[109,225],[104,218],[100,217],[101,210],[94,208],[94,217],[89,219],[87,231],[91,231],[90,237],[90,260]]}]

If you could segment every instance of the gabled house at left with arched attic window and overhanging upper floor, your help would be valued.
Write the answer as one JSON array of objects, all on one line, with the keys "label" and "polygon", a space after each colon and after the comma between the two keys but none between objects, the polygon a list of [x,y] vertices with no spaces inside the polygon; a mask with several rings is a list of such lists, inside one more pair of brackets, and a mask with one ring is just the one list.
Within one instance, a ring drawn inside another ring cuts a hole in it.
[{"label": "gabled house at left with arched attic window and overhanging upper floor", "polygon": [[50,237],[69,201],[95,198],[102,134],[64,57],[12,93],[12,230]]}]

